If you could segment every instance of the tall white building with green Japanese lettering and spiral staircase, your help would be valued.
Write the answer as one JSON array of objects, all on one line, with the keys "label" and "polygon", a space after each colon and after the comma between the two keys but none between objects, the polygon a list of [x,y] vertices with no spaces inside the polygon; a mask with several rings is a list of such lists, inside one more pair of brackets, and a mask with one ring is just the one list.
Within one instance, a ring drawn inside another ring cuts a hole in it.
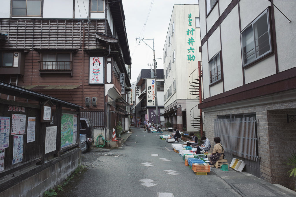
[{"label": "tall white building with green Japanese lettering and spiral staircase", "polygon": [[198,84],[192,83],[198,79],[201,60],[198,10],[197,4],[174,5],[163,47],[164,117],[178,130],[200,131]]}]

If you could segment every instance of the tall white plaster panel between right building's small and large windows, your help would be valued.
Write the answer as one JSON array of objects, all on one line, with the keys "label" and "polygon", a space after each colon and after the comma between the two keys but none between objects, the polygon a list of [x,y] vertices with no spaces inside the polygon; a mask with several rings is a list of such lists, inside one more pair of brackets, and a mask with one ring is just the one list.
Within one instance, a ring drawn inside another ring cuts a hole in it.
[{"label": "tall white plaster panel between right building's small and large windows", "polygon": [[225,91],[243,85],[238,6],[221,23],[223,81]]}]

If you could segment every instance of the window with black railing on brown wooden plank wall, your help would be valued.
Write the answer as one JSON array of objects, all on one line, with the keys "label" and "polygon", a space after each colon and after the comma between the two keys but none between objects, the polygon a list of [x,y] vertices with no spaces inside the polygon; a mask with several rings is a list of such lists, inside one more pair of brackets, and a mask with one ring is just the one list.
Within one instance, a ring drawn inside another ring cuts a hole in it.
[{"label": "window with black railing on brown wooden plank wall", "polygon": [[44,53],[40,63],[42,71],[70,71],[71,53]]}]

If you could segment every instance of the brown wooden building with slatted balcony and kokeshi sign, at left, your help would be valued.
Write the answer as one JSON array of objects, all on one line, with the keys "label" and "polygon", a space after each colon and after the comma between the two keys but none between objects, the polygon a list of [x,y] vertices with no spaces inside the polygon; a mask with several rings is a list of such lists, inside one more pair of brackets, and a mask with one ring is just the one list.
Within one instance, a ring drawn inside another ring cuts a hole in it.
[{"label": "brown wooden building with slatted balcony and kokeshi sign, at left", "polygon": [[1,1],[0,79],[83,106],[95,136],[109,140],[118,121],[128,130],[131,57],[122,1],[31,3]]}]

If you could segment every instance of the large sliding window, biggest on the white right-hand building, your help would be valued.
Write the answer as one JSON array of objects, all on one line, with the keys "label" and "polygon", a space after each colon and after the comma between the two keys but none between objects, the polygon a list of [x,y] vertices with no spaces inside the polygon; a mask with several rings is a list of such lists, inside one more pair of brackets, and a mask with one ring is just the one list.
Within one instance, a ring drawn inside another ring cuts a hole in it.
[{"label": "large sliding window, biggest on the white right-hand building", "polygon": [[243,66],[271,52],[268,9],[241,33]]}]

